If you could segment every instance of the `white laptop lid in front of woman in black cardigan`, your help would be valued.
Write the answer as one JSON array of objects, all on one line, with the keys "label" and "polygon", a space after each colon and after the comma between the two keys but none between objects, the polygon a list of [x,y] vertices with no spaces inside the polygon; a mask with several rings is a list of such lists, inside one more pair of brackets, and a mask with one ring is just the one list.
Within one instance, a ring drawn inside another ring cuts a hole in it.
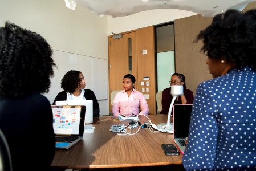
[{"label": "white laptop lid in front of woman in black cardigan", "polygon": [[56,101],[55,104],[56,105],[84,105],[86,106],[86,119],[84,119],[84,124],[92,124],[94,122],[92,100]]}]

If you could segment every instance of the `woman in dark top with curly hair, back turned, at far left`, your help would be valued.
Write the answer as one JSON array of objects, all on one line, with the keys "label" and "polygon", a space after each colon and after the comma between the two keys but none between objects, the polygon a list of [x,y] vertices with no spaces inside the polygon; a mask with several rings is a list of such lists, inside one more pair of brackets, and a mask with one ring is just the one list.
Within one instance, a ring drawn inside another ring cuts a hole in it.
[{"label": "woman in dark top with curly hair, back turned, at far left", "polygon": [[51,56],[39,34],[10,22],[0,27],[0,129],[14,171],[49,170],[54,158],[51,104],[40,94],[54,75]]}]

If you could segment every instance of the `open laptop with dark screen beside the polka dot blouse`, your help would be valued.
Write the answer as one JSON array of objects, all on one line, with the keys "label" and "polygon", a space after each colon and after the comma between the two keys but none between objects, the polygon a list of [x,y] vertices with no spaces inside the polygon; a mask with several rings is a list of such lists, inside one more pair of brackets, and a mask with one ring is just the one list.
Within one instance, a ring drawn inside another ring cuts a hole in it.
[{"label": "open laptop with dark screen beside the polka dot blouse", "polygon": [[189,135],[192,107],[192,104],[176,104],[173,106],[173,137],[181,154],[186,149],[185,139]]}]

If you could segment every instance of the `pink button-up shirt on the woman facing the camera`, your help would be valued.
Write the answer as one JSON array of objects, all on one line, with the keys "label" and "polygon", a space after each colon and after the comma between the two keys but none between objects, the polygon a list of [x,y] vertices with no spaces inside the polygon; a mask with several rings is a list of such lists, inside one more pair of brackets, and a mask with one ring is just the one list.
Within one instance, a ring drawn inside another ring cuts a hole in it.
[{"label": "pink button-up shirt on the woman facing the camera", "polygon": [[[141,112],[139,112],[141,108]],[[112,113],[114,116],[119,114],[143,114],[148,115],[148,103],[143,95],[143,93],[133,89],[130,97],[128,97],[125,90],[116,93],[116,96],[113,101]]]}]

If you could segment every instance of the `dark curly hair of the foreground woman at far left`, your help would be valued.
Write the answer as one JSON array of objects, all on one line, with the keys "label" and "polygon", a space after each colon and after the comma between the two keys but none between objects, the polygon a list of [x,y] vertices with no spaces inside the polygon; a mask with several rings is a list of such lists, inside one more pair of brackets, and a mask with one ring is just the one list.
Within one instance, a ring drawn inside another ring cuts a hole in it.
[{"label": "dark curly hair of the foreground woman at far left", "polygon": [[47,93],[56,66],[51,56],[42,36],[6,21],[0,27],[0,98]]}]

